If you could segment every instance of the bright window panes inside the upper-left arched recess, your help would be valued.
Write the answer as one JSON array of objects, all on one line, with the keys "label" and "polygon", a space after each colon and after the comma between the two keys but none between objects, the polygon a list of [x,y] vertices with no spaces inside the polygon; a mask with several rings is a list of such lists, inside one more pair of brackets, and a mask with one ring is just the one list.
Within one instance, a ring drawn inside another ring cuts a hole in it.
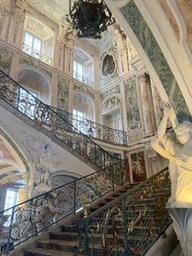
[{"label": "bright window panes inside the upper-left arched recess", "polygon": [[28,49],[28,54],[32,54],[33,51],[41,52],[41,40],[34,37],[31,33],[24,33],[24,45],[26,46],[26,49]]}]

